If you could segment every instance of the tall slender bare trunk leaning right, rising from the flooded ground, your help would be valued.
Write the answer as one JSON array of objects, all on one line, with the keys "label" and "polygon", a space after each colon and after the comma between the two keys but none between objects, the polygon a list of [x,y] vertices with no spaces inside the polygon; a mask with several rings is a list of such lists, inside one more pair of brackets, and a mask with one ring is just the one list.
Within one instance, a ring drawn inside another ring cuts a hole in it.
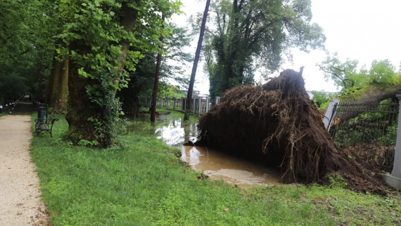
[{"label": "tall slender bare trunk leaning right, rising from the flooded ground", "polygon": [[195,83],[195,75],[196,75],[196,69],[198,68],[198,61],[199,61],[199,56],[200,56],[200,50],[202,48],[203,35],[205,34],[205,27],[206,27],[206,20],[208,18],[209,5],[210,5],[210,0],[207,0],[206,6],[205,6],[205,12],[203,12],[202,25],[201,25],[201,30],[199,33],[198,46],[196,47],[195,58],[193,59],[190,86],[188,87],[187,103],[185,105],[184,121],[190,120],[193,84]]}]

